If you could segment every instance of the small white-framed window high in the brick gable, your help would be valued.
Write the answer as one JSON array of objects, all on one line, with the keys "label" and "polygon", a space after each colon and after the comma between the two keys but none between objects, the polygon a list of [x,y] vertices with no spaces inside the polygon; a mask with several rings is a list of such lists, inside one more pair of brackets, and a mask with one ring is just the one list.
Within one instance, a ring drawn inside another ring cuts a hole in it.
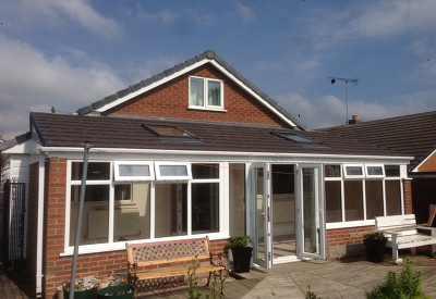
[{"label": "small white-framed window high in the brick gable", "polygon": [[190,108],[223,109],[222,82],[190,77]]}]

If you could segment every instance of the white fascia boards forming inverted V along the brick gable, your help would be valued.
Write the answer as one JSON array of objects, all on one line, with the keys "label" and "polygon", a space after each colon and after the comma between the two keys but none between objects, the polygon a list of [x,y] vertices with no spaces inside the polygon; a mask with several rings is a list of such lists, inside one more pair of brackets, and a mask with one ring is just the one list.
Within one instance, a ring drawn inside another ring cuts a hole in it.
[{"label": "white fascia boards forming inverted V along the brick gable", "polygon": [[280,111],[278,111],[275,107],[272,107],[268,101],[266,101],[264,98],[262,98],[258,94],[256,94],[253,89],[249,88],[249,86],[246,86],[243,82],[241,82],[239,78],[237,78],[232,73],[230,73],[229,71],[227,71],[222,65],[220,65],[218,62],[216,62],[215,60],[207,60],[204,59],[202,61],[198,61],[194,64],[192,64],[191,66],[187,66],[185,68],[183,68],[182,71],[175,72],[174,74],[165,77],[158,82],[155,82],[148,86],[145,86],[143,88],[141,88],[140,90],[129,94],[128,96],[118,99],[111,103],[108,103],[99,109],[97,109],[96,111],[98,112],[105,112],[113,107],[117,107],[130,99],[133,99],[144,92],[147,92],[148,90],[152,90],[162,84],[166,84],[167,82],[170,82],[185,73],[191,72],[192,70],[197,68],[198,66],[202,66],[206,63],[211,63],[215,67],[217,67],[219,71],[221,71],[226,76],[230,77],[235,84],[238,84],[241,88],[243,88],[245,91],[247,91],[251,96],[253,96],[255,99],[257,99],[262,104],[264,104],[265,107],[267,107],[270,111],[272,111],[274,113],[276,113],[282,121],[284,121],[287,124],[291,125],[292,127],[295,127],[296,124],[294,124],[288,116],[286,116],[284,114],[282,114]]}]

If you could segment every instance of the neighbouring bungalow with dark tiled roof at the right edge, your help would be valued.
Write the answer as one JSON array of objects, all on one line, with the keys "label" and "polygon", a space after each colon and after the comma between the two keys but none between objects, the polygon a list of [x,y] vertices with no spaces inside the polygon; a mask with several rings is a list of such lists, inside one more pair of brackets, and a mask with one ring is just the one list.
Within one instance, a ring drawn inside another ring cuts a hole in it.
[{"label": "neighbouring bungalow with dark tiled roof at the right edge", "polygon": [[320,130],[414,157],[408,167],[412,208],[417,223],[427,223],[429,205],[436,204],[436,111],[372,122],[356,119],[350,125]]}]

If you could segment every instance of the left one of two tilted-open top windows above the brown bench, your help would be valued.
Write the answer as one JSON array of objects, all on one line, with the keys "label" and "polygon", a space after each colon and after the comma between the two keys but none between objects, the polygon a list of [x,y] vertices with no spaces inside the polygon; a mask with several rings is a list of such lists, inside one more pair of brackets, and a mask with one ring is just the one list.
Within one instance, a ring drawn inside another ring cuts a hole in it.
[{"label": "left one of two tilted-open top windows above the brown bench", "polygon": [[116,182],[140,182],[155,179],[153,162],[116,161],[113,165]]}]

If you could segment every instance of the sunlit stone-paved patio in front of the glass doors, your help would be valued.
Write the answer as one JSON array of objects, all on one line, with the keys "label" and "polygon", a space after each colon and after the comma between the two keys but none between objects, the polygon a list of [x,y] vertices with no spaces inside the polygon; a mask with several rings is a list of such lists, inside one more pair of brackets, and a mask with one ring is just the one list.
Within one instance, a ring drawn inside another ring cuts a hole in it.
[{"label": "sunlit stone-paved patio in front of the glass doors", "polygon": [[[228,278],[225,298],[304,298],[307,286],[323,299],[365,298],[365,291],[384,282],[388,270],[397,273],[402,270],[390,263],[388,254],[383,263],[312,260],[279,264],[271,270],[252,269],[250,273],[239,274],[238,278]],[[428,256],[412,257],[412,270],[423,272],[423,289],[436,298],[436,260]],[[201,287],[199,291],[205,298],[207,288]],[[185,288],[140,298],[189,298],[189,291]]]}]

